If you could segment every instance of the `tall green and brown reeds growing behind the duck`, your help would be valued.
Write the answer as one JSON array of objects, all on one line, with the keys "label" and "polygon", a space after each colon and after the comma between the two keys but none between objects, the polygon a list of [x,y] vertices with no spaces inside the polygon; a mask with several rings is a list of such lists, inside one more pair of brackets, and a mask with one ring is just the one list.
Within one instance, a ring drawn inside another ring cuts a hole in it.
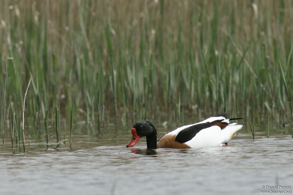
[{"label": "tall green and brown reeds growing behind the duck", "polygon": [[52,127],[55,111],[57,143],[60,115],[71,121],[71,142],[73,108],[75,118],[99,128],[112,115],[116,124],[158,122],[171,111],[178,124],[223,111],[293,124],[292,13],[293,1],[285,0],[1,1],[0,74],[7,80],[5,87],[0,78],[0,92],[6,102],[11,97],[10,109],[0,104],[1,124],[11,121],[19,144],[30,77],[28,131],[44,132],[44,118]]}]

